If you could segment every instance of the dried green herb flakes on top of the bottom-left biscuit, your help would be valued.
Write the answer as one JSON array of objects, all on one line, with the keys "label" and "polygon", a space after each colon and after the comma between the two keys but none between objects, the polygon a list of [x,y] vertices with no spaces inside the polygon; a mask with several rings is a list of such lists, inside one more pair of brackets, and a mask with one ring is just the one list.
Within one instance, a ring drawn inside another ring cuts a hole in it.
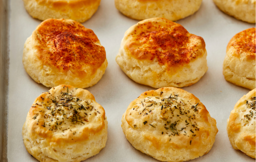
[{"label": "dried green herb flakes on top of the bottom-left biscuit", "polygon": [[[48,94],[51,93],[48,92]],[[46,98],[43,97],[41,97],[41,99],[46,100]],[[49,100],[47,104],[42,102],[42,105],[45,106],[46,109],[35,113],[33,119],[35,120],[40,113],[42,116],[40,118],[44,118],[45,121],[44,124],[40,123],[41,126],[47,127],[50,131],[61,130],[64,132],[72,125],[85,125],[89,122],[88,112],[93,111],[95,115],[101,114],[101,112],[94,108],[88,101],[73,96],[68,87],[67,92],[61,92],[59,96],[52,96],[51,94],[47,99]],[[42,106],[38,103],[35,105]],[[37,122],[39,122],[38,119]]]}]

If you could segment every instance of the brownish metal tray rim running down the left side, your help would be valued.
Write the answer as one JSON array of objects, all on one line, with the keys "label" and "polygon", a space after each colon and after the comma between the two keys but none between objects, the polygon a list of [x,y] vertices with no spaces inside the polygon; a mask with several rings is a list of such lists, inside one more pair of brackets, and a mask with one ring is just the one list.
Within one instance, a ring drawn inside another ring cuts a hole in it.
[{"label": "brownish metal tray rim running down the left side", "polygon": [[8,118],[8,82],[9,82],[9,50],[8,50],[8,18],[9,1],[0,0],[0,161],[7,162],[7,118]]}]

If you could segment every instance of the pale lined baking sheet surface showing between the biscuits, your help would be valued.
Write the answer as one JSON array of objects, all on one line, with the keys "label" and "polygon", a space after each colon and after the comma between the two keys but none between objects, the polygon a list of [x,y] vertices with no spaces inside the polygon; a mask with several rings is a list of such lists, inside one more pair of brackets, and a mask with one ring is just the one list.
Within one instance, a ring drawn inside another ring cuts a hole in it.
[{"label": "pale lined baking sheet surface showing between the biscuits", "polygon": [[[29,16],[22,0],[10,0],[9,5],[7,14],[9,28],[5,29],[9,33],[8,42],[5,44],[8,44],[10,64],[9,71],[1,70],[1,74],[4,71],[9,75],[9,84],[4,85],[8,86],[7,158],[8,162],[36,162],[37,160],[28,154],[23,144],[21,130],[34,99],[49,88],[37,84],[27,75],[22,64],[22,54],[27,37],[41,21]],[[0,7],[2,8],[1,4]],[[154,158],[136,150],[126,140],[121,129],[121,117],[129,103],[144,91],[154,89],[130,80],[115,62],[124,32],[137,22],[115,9],[114,0],[101,0],[98,11],[83,23],[98,36],[106,49],[108,59],[108,68],[102,79],[93,87],[87,88],[106,111],[108,141],[106,147],[98,155],[86,160],[87,162],[157,162]],[[222,63],[229,40],[236,33],[255,27],[255,24],[248,24],[224,14],[212,0],[203,0],[198,12],[177,23],[205,40],[209,69],[196,84],[182,89],[193,93],[202,101],[210,115],[216,119],[219,129],[216,142],[210,152],[190,162],[255,162],[255,159],[232,148],[226,132],[227,118],[231,110],[236,102],[249,92],[249,89],[225,81],[222,75]],[[5,57],[1,56],[2,58]],[[3,109],[4,107],[1,107],[1,111]]]}]

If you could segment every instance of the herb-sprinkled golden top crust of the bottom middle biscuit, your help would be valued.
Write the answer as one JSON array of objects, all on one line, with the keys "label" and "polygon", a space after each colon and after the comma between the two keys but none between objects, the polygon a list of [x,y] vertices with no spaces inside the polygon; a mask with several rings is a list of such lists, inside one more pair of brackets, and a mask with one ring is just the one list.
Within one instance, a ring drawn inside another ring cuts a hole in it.
[{"label": "herb-sprinkled golden top crust of the bottom middle biscuit", "polygon": [[199,99],[174,87],[142,93],[128,106],[125,116],[128,125],[143,132],[156,148],[166,143],[177,149],[198,148],[200,141],[209,142],[209,136],[217,133],[217,128],[212,130],[215,119],[209,118]]}]

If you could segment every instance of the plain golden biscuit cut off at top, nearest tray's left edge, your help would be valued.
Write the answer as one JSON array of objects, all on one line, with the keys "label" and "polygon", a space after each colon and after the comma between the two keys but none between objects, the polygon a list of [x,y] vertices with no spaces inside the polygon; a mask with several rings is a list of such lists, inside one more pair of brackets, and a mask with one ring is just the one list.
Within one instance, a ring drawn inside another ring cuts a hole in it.
[{"label": "plain golden biscuit cut off at top, nearest tray's left edge", "polygon": [[80,23],[90,19],[101,0],[23,0],[35,19],[72,19]]}]

